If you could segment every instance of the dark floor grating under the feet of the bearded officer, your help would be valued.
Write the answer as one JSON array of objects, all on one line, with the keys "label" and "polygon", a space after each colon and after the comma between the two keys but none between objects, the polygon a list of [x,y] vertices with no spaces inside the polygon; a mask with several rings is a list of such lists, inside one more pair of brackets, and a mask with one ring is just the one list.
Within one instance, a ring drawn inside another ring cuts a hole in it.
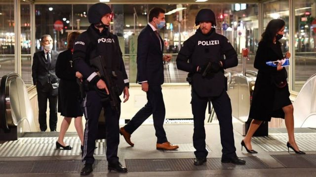
[{"label": "dark floor grating under the feet of the bearded officer", "polygon": [[242,157],[245,165],[222,163],[221,158],[207,158],[201,166],[193,164],[193,158],[175,159],[125,159],[128,172],[164,172],[164,171],[197,171],[197,170],[229,170],[229,169],[267,169],[269,168],[257,157]]}]

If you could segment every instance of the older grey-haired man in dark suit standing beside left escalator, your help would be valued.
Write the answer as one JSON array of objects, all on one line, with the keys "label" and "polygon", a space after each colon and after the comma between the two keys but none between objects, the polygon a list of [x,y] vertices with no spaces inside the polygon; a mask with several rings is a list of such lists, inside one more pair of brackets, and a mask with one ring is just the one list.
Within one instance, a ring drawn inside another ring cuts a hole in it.
[{"label": "older grey-haired man in dark suit standing beside left escalator", "polygon": [[56,131],[58,78],[55,75],[55,64],[58,53],[52,51],[53,39],[49,34],[40,38],[43,48],[33,56],[32,78],[38,92],[40,131],[46,131],[47,99],[49,101],[49,128]]}]

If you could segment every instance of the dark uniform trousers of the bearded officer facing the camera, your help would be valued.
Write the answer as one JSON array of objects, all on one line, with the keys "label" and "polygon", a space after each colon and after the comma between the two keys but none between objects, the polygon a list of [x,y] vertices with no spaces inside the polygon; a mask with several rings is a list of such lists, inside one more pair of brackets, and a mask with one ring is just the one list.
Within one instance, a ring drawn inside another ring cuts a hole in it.
[{"label": "dark uniform trousers of the bearded officer facing the camera", "polygon": [[[223,148],[222,159],[235,157],[236,148],[233,133],[231,99],[226,91],[223,91],[221,95],[211,97],[210,99],[219,120],[221,144]],[[207,103],[207,97],[200,97],[194,90],[192,90],[191,104],[194,118],[193,146],[196,149],[194,152],[196,157],[206,157],[208,153],[205,148],[204,128]]]}]

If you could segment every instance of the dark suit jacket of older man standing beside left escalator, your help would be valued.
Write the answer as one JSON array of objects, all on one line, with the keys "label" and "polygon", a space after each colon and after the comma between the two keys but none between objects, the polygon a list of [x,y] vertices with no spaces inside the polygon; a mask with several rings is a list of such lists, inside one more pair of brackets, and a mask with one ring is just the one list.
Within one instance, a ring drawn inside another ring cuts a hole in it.
[{"label": "dark suit jacket of older man standing beside left escalator", "polygon": [[49,82],[51,84],[58,82],[58,78],[55,74],[57,56],[58,52],[52,50],[51,62],[48,64],[44,51],[39,51],[34,54],[32,64],[32,78],[34,85],[36,85],[38,82],[40,82],[42,86]]}]

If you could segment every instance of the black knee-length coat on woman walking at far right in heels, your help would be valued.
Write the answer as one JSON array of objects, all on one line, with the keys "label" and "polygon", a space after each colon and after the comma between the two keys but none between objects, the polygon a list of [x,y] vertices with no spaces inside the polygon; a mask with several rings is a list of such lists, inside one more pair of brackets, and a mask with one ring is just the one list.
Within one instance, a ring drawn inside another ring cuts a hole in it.
[{"label": "black knee-length coat on woman walking at far right in heels", "polygon": [[288,85],[284,88],[277,88],[272,81],[272,77],[282,73],[287,76],[286,69],[280,71],[276,67],[268,66],[266,61],[275,61],[282,59],[283,54],[278,41],[276,44],[268,44],[260,41],[254,67],[258,69],[258,75],[253,91],[252,102],[250,106],[249,118],[263,121],[270,121],[271,117],[284,118],[283,106],[290,103]]}]

